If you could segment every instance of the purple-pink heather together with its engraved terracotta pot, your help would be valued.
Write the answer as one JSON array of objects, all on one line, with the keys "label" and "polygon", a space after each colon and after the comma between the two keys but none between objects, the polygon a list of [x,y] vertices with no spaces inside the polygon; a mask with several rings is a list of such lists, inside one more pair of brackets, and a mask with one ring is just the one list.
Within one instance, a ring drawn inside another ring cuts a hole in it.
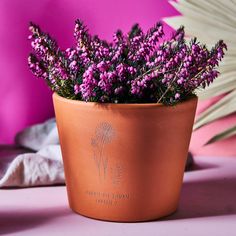
[{"label": "purple-pink heather together with its engraved terracotta pot", "polygon": [[177,209],[197,97],[218,75],[226,45],[208,50],[138,24],[113,42],[75,23],[62,51],[31,23],[29,67],[54,91],[69,204],[109,221],[146,221]]}]

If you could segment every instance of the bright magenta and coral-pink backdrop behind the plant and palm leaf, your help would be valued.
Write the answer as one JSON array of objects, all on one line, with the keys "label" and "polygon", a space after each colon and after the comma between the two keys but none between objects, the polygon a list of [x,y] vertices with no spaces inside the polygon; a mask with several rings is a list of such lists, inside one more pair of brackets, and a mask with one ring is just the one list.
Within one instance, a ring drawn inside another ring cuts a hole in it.
[{"label": "bright magenta and coral-pink backdrop behind the plant and palm leaf", "polygon": [[[0,1],[0,143],[13,142],[17,131],[54,115],[51,92],[27,67],[30,51],[28,23],[33,21],[58,39],[62,48],[73,43],[73,26],[81,18],[90,31],[105,39],[121,28],[127,31],[135,22],[144,29],[162,17],[178,14],[167,0],[1,0]],[[166,31],[171,29],[167,26]],[[228,122],[223,122],[228,125]],[[211,126],[212,132],[219,125]],[[200,148],[209,130],[193,136],[194,153],[235,155],[232,141]],[[224,150],[227,147],[227,151]]]}]

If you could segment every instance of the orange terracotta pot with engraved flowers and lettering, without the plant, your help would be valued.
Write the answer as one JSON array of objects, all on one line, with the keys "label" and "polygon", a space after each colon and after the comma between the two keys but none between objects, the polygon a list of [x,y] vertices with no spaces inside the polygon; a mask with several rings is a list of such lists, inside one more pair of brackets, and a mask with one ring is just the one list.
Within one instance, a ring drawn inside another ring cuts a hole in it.
[{"label": "orange terracotta pot with engraved flowers and lettering, without the plant", "polygon": [[176,106],[53,95],[71,209],[136,222],[176,211],[197,97]]}]

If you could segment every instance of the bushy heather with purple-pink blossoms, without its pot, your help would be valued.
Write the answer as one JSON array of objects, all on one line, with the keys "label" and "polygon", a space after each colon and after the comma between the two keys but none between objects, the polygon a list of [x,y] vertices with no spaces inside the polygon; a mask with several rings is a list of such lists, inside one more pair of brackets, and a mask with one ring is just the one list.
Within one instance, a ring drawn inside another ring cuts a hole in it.
[{"label": "bushy heather with purple-pink blossoms, without its pot", "polygon": [[227,49],[220,40],[210,50],[196,38],[186,42],[184,27],[164,40],[163,25],[146,33],[135,24],[118,30],[112,42],[91,36],[75,22],[75,45],[61,50],[56,41],[31,23],[33,74],[60,96],[86,102],[163,103],[173,105],[205,88],[218,76]]}]

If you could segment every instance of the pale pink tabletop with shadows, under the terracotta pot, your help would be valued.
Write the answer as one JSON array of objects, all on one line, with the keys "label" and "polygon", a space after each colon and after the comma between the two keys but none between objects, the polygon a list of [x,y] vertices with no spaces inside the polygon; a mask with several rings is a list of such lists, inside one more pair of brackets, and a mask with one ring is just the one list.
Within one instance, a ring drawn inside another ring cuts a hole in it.
[{"label": "pale pink tabletop with shadows, under the terracotta pot", "polygon": [[184,176],[178,211],[145,223],[89,219],[68,208],[66,189],[0,190],[0,235],[236,235],[236,158],[196,157]]}]

